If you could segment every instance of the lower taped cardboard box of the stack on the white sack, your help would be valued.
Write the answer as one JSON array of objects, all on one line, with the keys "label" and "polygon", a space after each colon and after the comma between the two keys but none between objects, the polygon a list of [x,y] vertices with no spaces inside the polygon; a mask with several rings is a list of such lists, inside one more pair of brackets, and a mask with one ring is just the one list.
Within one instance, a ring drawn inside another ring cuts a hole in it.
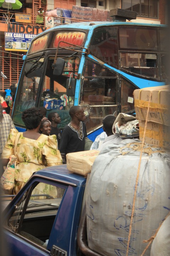
[{"label": "lower taped cardboard box of the stack on the white sack", "polygon": [[[142,141],[145,121],[139,120],[139,137]],[[170,126],[164,124],[147,122],[145,142],[159,148],[170,150]]]}]

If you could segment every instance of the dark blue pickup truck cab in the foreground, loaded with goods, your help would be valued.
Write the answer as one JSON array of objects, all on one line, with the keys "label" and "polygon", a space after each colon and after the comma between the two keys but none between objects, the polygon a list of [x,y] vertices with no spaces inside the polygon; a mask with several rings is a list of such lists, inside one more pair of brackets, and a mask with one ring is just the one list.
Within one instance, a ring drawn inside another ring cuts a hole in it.
[{"label": "dark blue pickup truck cab in the foreground, loaded with goods", "polygon": [[84,255],[81,250],[98,255],[86,245],[85,217],[80,225],[85,185],[86,178],[66,165],[35,172],[4,211],[5,241],[12,255]]}]

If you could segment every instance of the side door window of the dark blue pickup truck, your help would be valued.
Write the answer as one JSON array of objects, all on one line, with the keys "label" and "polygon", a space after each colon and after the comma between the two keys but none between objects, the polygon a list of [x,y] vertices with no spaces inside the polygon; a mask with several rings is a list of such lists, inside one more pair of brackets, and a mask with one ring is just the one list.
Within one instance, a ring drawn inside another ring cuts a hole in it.
[{"label": "side door window of the dark blue pickup truck", "polygon": [[8,225],[14,232],[46,248],[65,190],[36,183],[19,201]]}]

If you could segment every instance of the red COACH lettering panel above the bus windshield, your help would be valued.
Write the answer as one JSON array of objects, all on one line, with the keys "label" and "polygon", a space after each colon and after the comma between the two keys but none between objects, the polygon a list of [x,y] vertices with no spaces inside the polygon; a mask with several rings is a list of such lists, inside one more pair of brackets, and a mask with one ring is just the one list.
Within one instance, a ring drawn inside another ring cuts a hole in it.
[{"label": "red COACH lettering panel above the bus windshield", "polygon": [[[60,43],[60,41],[72,43],[77,46],[84,46],[85,36],[86,36],[86,34],[84,32],[60,32],[60,33],[57,33],[57,35],[53,41],[53,48],[56,48],[58,46],[58,43]],[[60,43],[60,46],[61,47],[73,47],[72,45],[63,43],[63,42]]]}]

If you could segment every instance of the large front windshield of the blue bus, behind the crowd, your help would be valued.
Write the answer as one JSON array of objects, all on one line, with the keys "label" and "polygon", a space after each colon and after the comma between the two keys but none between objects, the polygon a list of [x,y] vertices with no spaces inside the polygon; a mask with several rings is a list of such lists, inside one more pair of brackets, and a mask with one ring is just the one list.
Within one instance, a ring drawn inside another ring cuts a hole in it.
[{"label": "large front windshield of the blue bus, behind the crowd", "polygon": [[[24,65],[22,85],[19,87],[19,97],[16,98],[16,108],[13,116],[15,125],[24,127],[22,112],[30,107],[44,106],[47,114],[59,112],[62,122],[60,128],[68,124],[70,105],[74,104],[74,96],[66,95],[66,81],[70,74],[78,74],[79,57],[66,57],[64,71],[61,76],[54,76],[52,64],[54,56],[47,60],[44,57],[33,59]],[[45,70],[45,71],[44,71]],[[75,80],[77,76],[74,77]],[[61,111],[62,110],[62,111]]]}]

